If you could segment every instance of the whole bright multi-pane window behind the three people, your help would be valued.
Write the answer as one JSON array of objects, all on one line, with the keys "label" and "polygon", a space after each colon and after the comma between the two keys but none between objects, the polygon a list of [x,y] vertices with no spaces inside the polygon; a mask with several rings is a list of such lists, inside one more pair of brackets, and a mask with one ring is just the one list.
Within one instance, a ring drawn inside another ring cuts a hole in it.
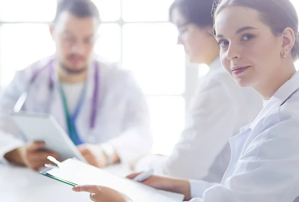
[{"label": "whole bright multi-pane window behind the three people", "polygon": [[[183,129],[186,86],[196,83],[185,79],[192,73],[168,22],[173,0],[93,1],[103,21],[95,52],[133,71],[148,96],[153,152],[169,154]],[[55,52],[48,23],[56,5],[55,0],[0,0],[1,87],[16,70]]]}]

